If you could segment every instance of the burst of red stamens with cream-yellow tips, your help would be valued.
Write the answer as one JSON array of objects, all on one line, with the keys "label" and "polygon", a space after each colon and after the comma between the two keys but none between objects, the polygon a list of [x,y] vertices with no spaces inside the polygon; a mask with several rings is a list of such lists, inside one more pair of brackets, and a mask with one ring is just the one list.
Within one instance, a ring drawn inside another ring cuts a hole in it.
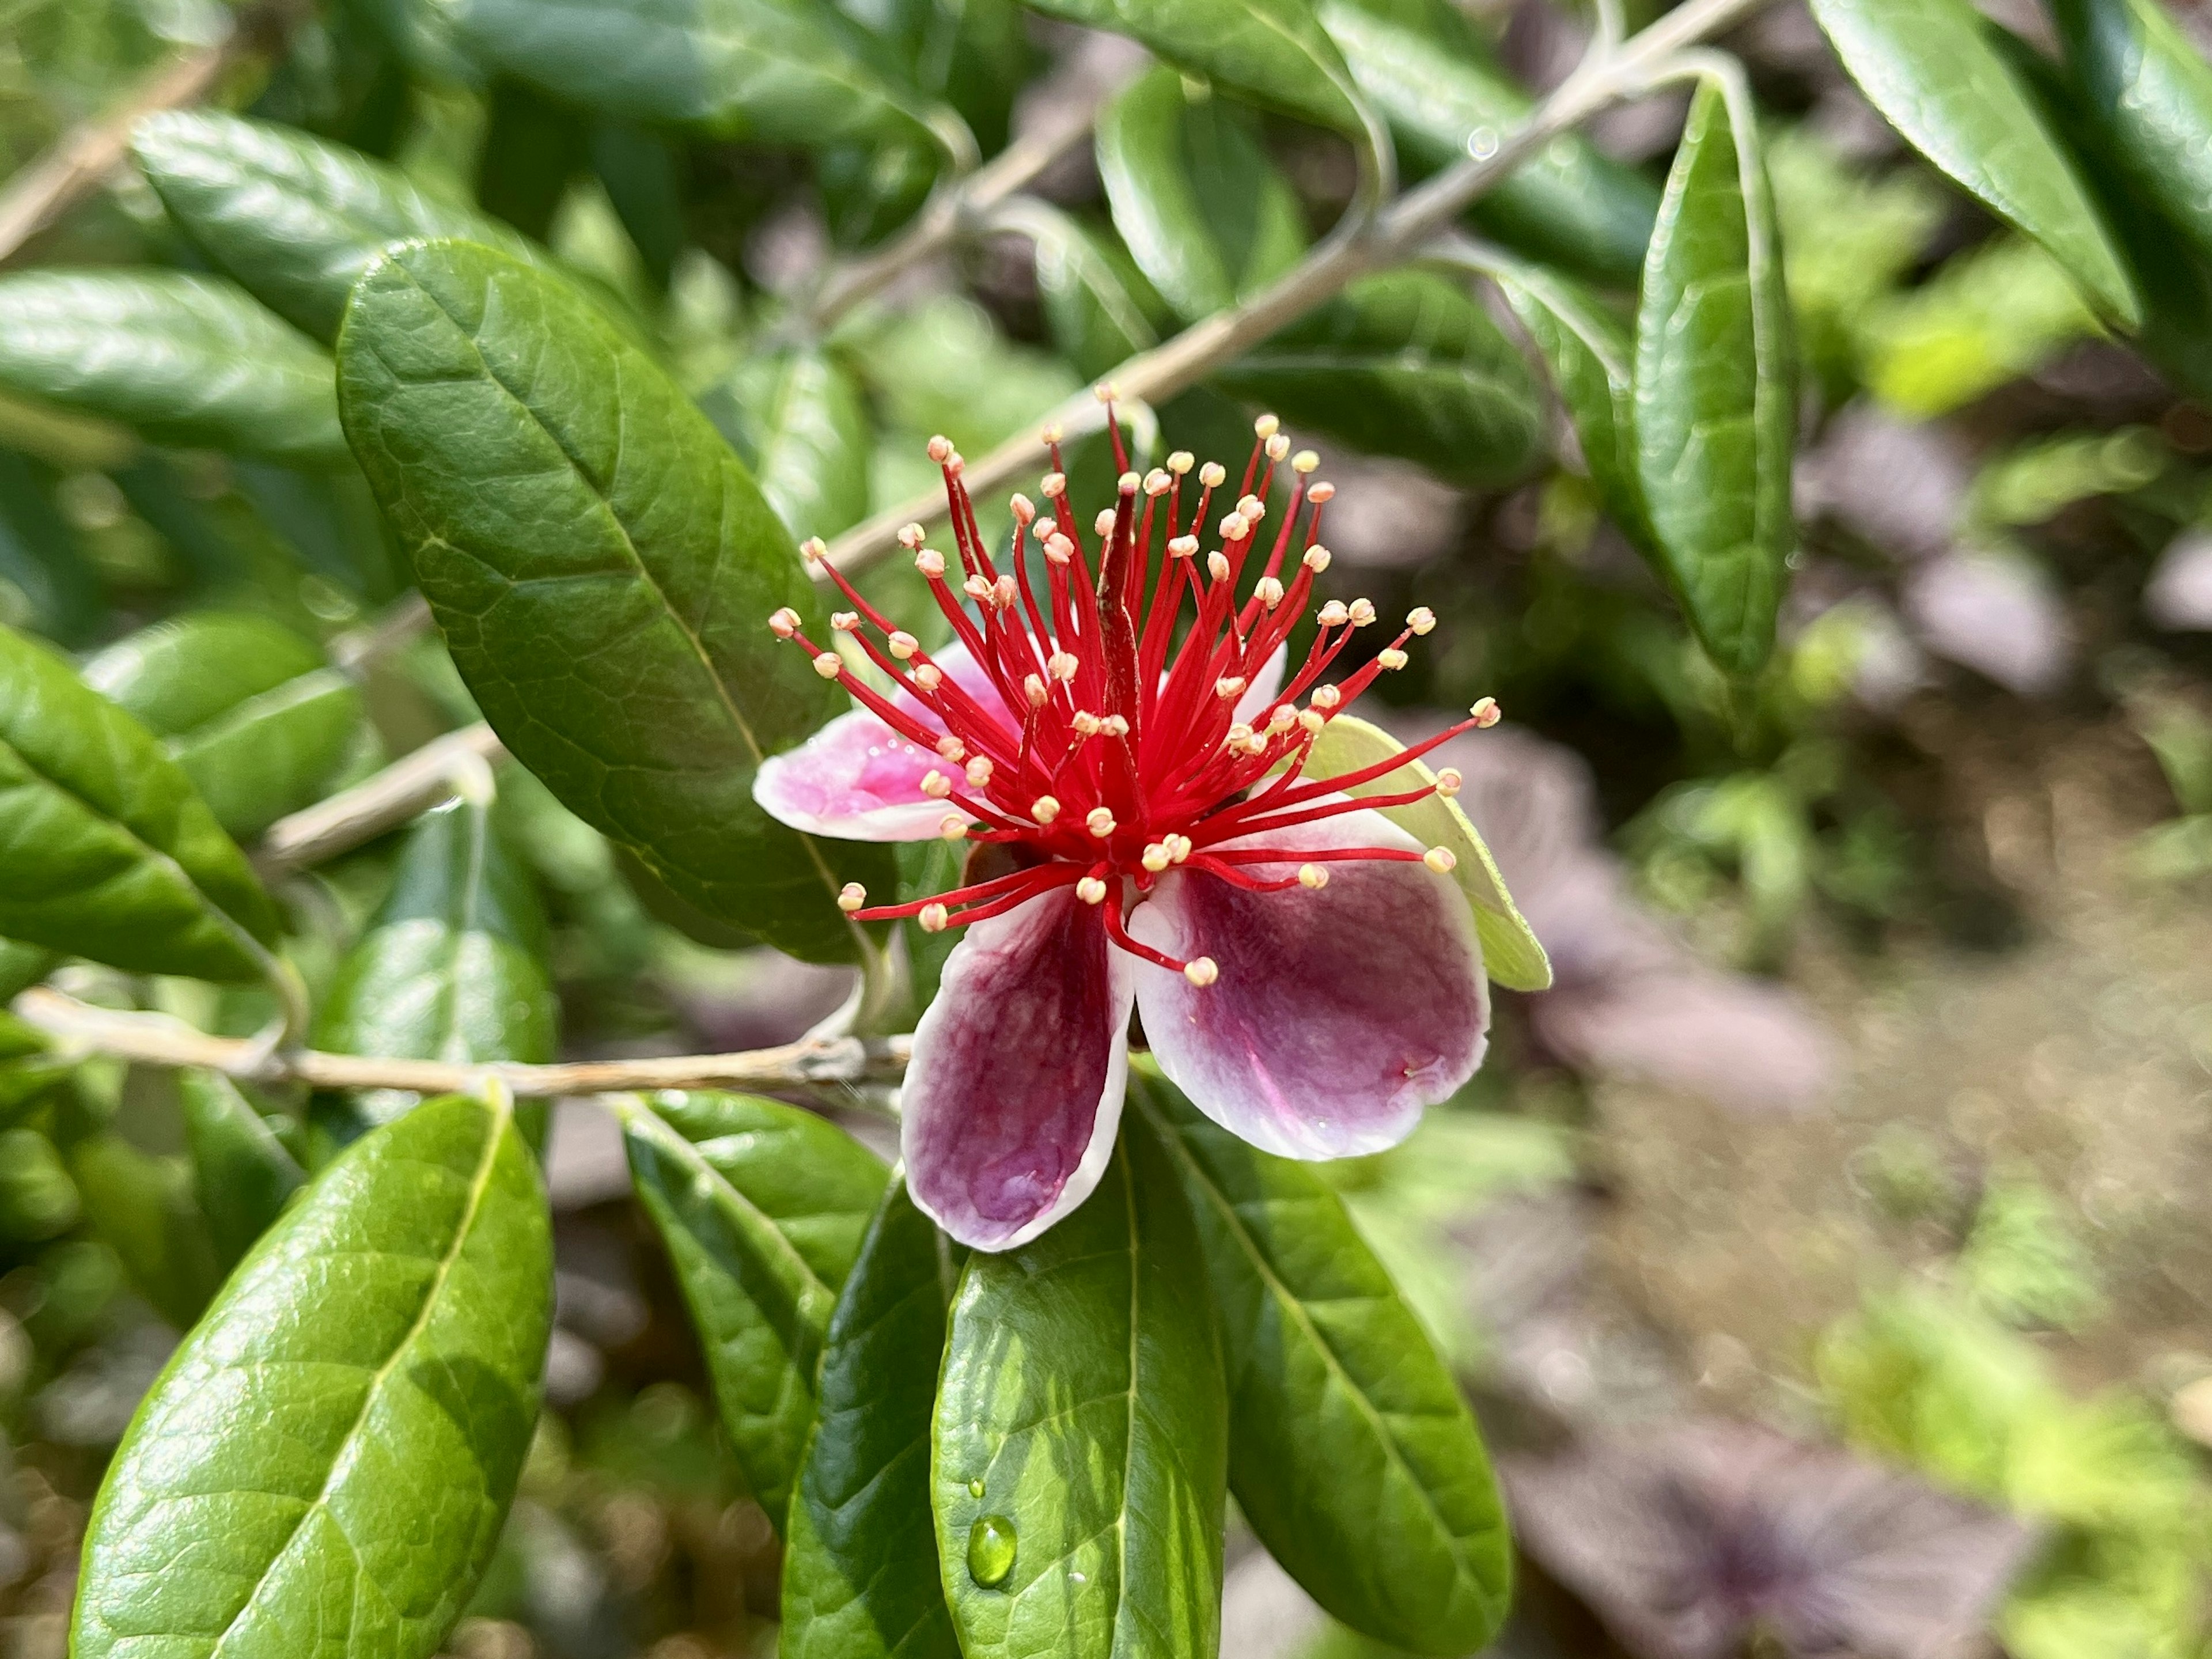
[{"label": "burst of red stamens with cream-yellow tips", "polygon": [[[1115,945],[1192,984],[1210,984],[1217,978],[1210,958],[1179,962],[1128,936],[1126,887],[1144,894],[1177,867],[1254,891],[1325,887],[1327,865],[1338,860],[1425,860],[1451,869],[1447,847],[1332,847],[1298,854],[1294,876],[1263,876],[1256,867],[1283,865],[1287,856],[1230,843],[1458,792],[1458,772],[1447,768],[1433,785],[1345,794],[1464,730],[1493,726],[1498,706],[1482,699],[1469,719],[1365,770],[1305,779],[1314,739],[1376,675],[1405,666],[1407,639],[1429,633],[1436,615],[1416,608],[1389,646],[1329,684],[1323,675],[1352,635],[1376,619],[1367,599],[1329,599],[1314,611],[1314,641],[1296,672],[1274,697],[1248,706],[1252,686],[1305,615],[1314,577],[1329,568],[1321,511],[1334,487],[1307,482],[1318,467],[1314,451],[1292,456],[1276,418],[1261,416],[1237,504],[1212,518],[1228,473],[1206,462],[1197,467],[1197,502],[1186,520],[1194,458],[1179,449],[1144,478],[1128,471],[1113,394],[1099,387],[1099,396],[1121,480],[1115,504],[1091,524],[1088,549],[1068,504],[1057,427],[1044,434],[1053,456],[1042,487],[1048,511],[1040,513],[1026,495],[1013,498],[1004,568],[984,546],[960,453],[945,438],[929,440],[929,458],[945,471],[958,571],[945,553],[922,546],[920,524],[907,524],[898,540],[973,659],[971,684],[860,597],[827,562],[821,540],[805,542],[801,553],[854,606],[834,613],[830,626],[849,635],[902,697],[883,695],[836,650],[807,639],[794,611],[779,611],[768,626],[803,646],[816,672],[843,684],[891,730],[938,754],[922,790],[945,801],[947,841],[1009,845],[1020,854],[1006,874],[907,905],[869,907],[867,894],[849,885],[838,900],[847,911],[858,920],[914,916],[925,929],[942,929],[1075,887],[1079,900],[1104,907]],[[1270,535],[1265,502],[1285,458],[1290,504]],[[1024,538],[1042,553],[1044,595],[1035,591]],[[1212,540],[1203,560],[1201,540]]]}]

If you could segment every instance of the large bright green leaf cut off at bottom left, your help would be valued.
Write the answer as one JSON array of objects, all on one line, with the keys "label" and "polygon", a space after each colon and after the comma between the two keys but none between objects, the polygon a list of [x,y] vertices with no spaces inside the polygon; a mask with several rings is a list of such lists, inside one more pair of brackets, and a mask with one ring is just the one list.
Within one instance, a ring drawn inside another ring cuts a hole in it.
[{"label": "large bright green leaf cut off at bottom left", "polygon": [[93,1506],[71,1652],[427,1659],[515,1495],[553,1228],[449,1095],[332,1164],[186,1336]]}]

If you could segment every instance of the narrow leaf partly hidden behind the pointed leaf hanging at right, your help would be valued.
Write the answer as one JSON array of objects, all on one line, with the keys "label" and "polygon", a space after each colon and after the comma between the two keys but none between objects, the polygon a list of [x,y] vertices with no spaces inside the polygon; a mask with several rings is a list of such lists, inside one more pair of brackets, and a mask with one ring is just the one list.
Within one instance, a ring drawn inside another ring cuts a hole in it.
[{"label": "narrow leaf partly hidden behind the pointed leaf hanging at right", "polygon": [[[1500,270],[1498,288],[1551,369],[1599,500],[1637,551],[1657,560],[1637,478],[1635,343],[1628,325],[1573,279],[1542,265]],[[1666,575],[1663,566],[1659,575]]]}]

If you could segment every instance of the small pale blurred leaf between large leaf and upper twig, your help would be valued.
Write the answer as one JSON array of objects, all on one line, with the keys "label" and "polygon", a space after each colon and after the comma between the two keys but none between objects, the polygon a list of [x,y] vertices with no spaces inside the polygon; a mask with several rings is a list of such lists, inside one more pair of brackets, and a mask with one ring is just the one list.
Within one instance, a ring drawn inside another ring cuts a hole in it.
[{"label": "small pale blurred leaf between large leaf and upper twig", "polygon": [[827,540],[867,518],[867,403],[827,352],[741,363],[701,403],[792,535]]}]

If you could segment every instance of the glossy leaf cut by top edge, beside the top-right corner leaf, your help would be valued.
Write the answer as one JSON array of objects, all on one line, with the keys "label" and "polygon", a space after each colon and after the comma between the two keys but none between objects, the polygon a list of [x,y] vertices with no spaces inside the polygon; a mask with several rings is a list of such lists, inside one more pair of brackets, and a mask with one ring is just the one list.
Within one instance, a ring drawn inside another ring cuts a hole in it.
[{"label": "glossy leaf cut by top edge, beside the top-right corner leaf", "polygon": [[2141,319],[2081,179],[1969,0],[1812,0],[1812,15],[1920,155],[2044,243],[2104,312]]}]

